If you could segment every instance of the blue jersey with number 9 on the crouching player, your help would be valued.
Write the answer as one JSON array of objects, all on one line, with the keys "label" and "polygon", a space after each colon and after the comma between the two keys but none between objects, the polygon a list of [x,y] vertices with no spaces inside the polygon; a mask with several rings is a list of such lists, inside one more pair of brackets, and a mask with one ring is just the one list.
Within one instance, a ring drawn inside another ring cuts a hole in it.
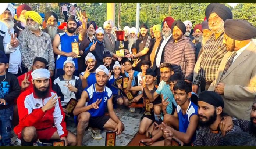
[{"label": "blue jersey with number 9 on the crouching player", "polygon": [[87,105],[91,105],[92,103],[96,102],[97,99],[102,99],[102,101],[99,104],[99,109],[90,109],[88,111],[91,117],[103,116],[105,108],[107,108],[107,100],[109,100],[112,96],[112,91],[105,86],[105,90],[103,92],[97,92],[95,84],[92,84],[90,87],[85,89],[85,91],[89,96],[89,101]]}]

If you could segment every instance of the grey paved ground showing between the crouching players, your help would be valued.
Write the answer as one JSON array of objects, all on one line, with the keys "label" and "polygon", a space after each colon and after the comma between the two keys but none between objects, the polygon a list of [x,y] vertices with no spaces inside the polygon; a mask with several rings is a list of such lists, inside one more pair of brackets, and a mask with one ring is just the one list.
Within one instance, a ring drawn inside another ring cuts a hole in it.
[{"label": "grey paved ground showing between the crouching players", "polygon": [[[119,119],[124,123],[125,130],[121,133],[121,135],[117,135],[116,146],[127,146],[127,144],[132,140],[135,134],[139,130],[139,123],[141,121],[142,114],[139,113],[139,109],[136,108],[134,113],[129,112],[129,108],[126,107],[118,107],[115,109],[115,113],[119,117]],[[74,120],[72,118],[67,119],[67,129],[74,134],[77,133],[77,128],[75,126]],[[84,146],[105,146],[105,133],[107,131],[101,131],[102,139],[95,140],[92,138],[91,133],[86,130],[85,135],[83,137],[83,145]],[[14,133],[13,133],[14,134]],[[12,138],[12,143],[15,142],[17,136],[14,134]],[[14,144],[15,145],[15,144]],[[16,146],[16,145],[15,145]]]}]

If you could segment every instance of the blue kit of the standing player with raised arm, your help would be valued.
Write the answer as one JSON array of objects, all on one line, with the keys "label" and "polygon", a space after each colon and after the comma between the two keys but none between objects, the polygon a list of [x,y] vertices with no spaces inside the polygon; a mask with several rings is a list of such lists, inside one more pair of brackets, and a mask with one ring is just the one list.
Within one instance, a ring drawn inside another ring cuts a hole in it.
[{"label": "blue kit of the standing player with raised arm", "polygon": [[[66,53],[72,52],[71,43],[78,42],[78,35],[68,36],[67,33],[58,33],[58,35],[60,36],[60,45],[58,49]],[[56,59],[56,69],[63,69],[63,64],[66,60],[66,56],[58,55]],[[75,62],[75,69],[78,70],[77,58],[74,58],[73,61]]]}]

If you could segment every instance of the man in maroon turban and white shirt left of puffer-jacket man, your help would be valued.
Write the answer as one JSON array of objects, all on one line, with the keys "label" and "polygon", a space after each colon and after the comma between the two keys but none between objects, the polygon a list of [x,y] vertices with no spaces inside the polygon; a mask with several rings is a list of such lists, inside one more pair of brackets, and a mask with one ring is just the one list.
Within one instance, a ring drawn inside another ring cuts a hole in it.
[{"label": "man in maroon turban and white shirt left of puffer-jacket man", "polygon": [[[164,18],[162,22],[162,34],[163,38],[159,43],[159,46],[156,51],[152,69],[157,73],[157,76],[160,76],[159,66],[164,62],[164,49],[166,44],[170,42],[172,37],[171,25],[175,20],[172,17]],[[157,84],[160,83],[160,77],[157,77]]]}]

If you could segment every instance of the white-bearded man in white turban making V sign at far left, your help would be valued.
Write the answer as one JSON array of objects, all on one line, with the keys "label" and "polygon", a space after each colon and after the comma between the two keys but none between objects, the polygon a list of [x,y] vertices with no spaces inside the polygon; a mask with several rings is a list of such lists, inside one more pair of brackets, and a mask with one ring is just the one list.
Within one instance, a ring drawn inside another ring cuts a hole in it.
[{"label": "white-bearded man in white turban making V sign at far left", "polygon": [[[0,21],[7,26],[6,30],[1,30],[4,34],[3,46],[4,52],[9,58],[9,69],[8,72],[14,74],[15,76],[21,75],[21,52],[18,47],[17,34],[14,34],[14,14],[15,10],[13,4],[11,3],[1,3],[1,15]],[[13,36],[14,34],[14,36]],[[10,55],[9,55],[10,54]],[[7,57],[8,57],[7,56]]]}]

